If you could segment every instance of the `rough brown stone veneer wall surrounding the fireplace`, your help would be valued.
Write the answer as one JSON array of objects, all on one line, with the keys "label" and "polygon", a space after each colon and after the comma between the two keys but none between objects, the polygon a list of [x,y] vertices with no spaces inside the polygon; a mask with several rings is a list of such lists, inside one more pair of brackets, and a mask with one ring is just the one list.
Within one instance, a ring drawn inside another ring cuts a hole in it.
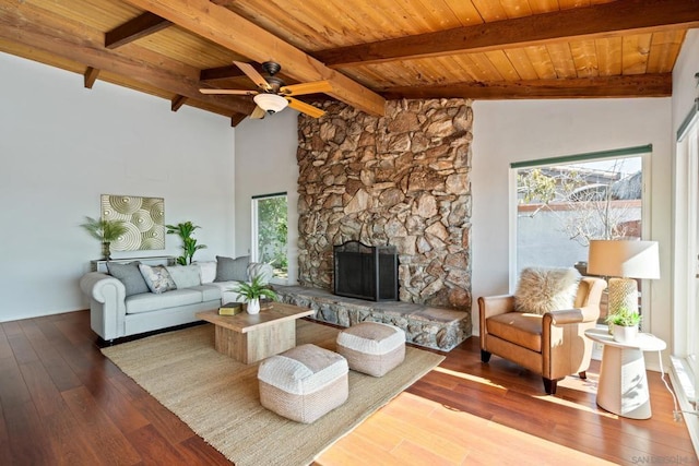
[{"label": "rough brown stone veneer wall surrounding the fireplace", "polygon": [[471,100],[299,117],[299,284],[332,290],[334,244],[399,252],[400,300],[471,309]]}]

